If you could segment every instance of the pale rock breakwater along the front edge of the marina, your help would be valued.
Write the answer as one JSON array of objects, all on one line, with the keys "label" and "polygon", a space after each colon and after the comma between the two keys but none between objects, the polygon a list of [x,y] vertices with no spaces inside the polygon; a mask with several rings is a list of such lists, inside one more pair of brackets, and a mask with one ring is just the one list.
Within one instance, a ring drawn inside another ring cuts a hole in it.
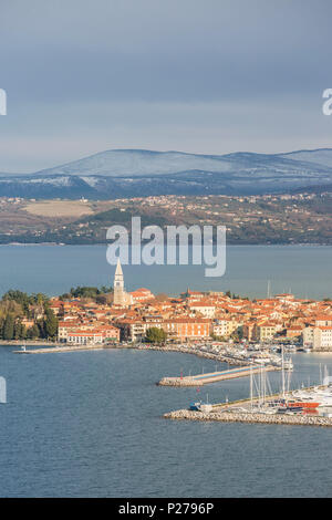
[{"label": "pale rock breakwater along the front edge of the marina", "polygon": [[219,423],[249,423],[264,425],[297,425],[297,426],[332,426],[331,417],[309,416],[309,415],[287,415],[287,414],[257,414],[245,412],[195,412],[178,409],[164,414],[166,419],[181,420],[214,420]]}]

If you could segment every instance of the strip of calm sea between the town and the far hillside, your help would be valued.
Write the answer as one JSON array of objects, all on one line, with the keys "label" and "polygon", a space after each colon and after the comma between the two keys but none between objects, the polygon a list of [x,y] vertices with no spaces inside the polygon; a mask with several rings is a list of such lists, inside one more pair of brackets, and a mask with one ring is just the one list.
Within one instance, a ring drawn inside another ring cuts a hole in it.
[{"label": "strip of calm sea between the town and the far hillside", "polygon": [[[228,290],[264,297],[291,290],[299,297],[332,297],[332,247],[229,246],[226,274],[206,278],[201,266],[124,266],[127,290],[178,294]],[[0,246],[0,294],[15,288],[62,294],[75,285],[113,284],[115,268],[104,246]]]}]

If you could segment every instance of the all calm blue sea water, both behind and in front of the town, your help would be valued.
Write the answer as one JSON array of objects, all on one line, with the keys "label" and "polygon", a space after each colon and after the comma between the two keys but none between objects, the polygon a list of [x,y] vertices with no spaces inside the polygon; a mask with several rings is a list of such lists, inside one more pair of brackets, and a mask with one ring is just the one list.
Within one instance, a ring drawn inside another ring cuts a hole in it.
[{"label": "all calm blue sea water, both behind and in front of the town", "polygon": [[[198,267],[124,267],[127,289],[231,289],[250,297],[291,289],[332,295],[332,248],[231,247],[227,273]],[[0,293],[56,294],[112,283],[104,247],[0,247]],[[331,497],[332,430],[300,426],[170,422],[194,388],[157,387],[165,375],[207,372],[215,362],[160,352],[15,355],[0,347],[8,404],[0,405],[2,497]],[[319,382],[332,356],[293,356],[292,384]],[[217,365],[218,368],[221,365]],[[279,374],[269,374],[272,387]],[[210,402],[247,397],[248,378],[206,386]]]}]

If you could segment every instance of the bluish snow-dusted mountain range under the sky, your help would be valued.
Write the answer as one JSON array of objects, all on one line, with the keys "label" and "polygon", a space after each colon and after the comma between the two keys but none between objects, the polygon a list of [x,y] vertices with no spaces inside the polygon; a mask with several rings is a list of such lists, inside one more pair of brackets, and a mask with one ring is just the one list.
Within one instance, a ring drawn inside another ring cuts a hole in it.
[{"label": "bluish snow-dusted mountain range under the sky", "polygon": [[332,149],[197,155],[106,150],[32,175],[0,175],[0,196],[111,199],[259,195],[332,187]]}]

